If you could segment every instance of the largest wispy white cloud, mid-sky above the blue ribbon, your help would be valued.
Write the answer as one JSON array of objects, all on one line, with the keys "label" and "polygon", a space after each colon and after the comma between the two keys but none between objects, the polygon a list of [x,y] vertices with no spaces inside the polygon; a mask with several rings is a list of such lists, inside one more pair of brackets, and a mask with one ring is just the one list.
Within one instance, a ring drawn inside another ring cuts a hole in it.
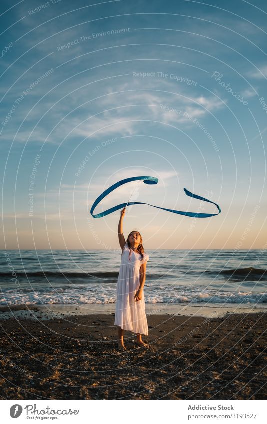
[{"label": "largest wispy white cloud, mid-sky above the blue ribbon", "polygon": [[[123,84],[123,86],[117,87],[117,91],[123,91],[127,85]],[[179,109],[182,113],[178,114],[176,111],[163,110],[160,107],[161,104],[168,108]],[[122,107],[119,107],[120,105]],[[164,122],[174,126],[177,126],[177,123],[193,125],[186,118],[186,114],[191,115],[192,118],[197,118],[204,116],[208,111],[212,112],[214,109],[218,109],[224,105],[217,97],[195,96],[190,98],[173,96],[173,94],[164,92],[164,90],[160,93],[136,90],[125,93],[114,93],[111,96],[108,95],[100,98],[97,101],[97,106],[100,110],[103,108],[105,111],[78,125],[73,131],[75,135],[78,134],[83,137],[92,134],[94,137],[110,136],[110,133],[116,133],[122,136],[134,135],[137,133],[139,121],[146,119]],[[116,106],[118,108],[114,109]],[[108,108],[113,110],[106,110]],[[68,119],[68,126],[74,128],[74,122],[77,122],[76,118],[74,121],[71,118]]]}]

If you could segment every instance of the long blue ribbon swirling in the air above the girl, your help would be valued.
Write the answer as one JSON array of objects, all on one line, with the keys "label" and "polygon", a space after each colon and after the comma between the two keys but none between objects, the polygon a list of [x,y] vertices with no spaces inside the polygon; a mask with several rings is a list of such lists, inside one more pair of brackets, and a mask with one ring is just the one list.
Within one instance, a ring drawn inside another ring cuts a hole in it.
[{"label": "long blue ribbon swirling in the air above the girl", "polygon": [[150,205],[150,203],[129,202],[129,203],[120,203],[119,205],[113,206],[112,208],[107,209],[104,212],[97,213],[95,215],[93,214],[93,211],[96,208],[96,206],[98,205],[98,203],[100,203],[101,200],[103,200],[109,193],[111,193],[111,191],[115,190],[117,187],[119,187],[123,184],[127,184],[130,181],[138,181],[138,180],[143,180],[144,184],[157,184],[158,183],[158,178],[155,178],[155,177],[131,177],[131,178],[125,178],[124,180],[118,181],[117,183],[111,185],[111,187],[107,188],[102,194],[100,194],[100,196],[97,197],[97,199],[93,203],[91,210],[90,210],[90,213],[93,216],[93,218],[102,218],[103,216],[109,215],[110,213],[115,212],[118,209],[123,209],[125,206],[131,206],[131,205],[149,205],[149,206],[152,206],[153,208],[163,209],[164,211],[177,213],[179,215],[190,216],[192,218],[208,218],[210,216],[219,215],[220,212],[221,212],[219,205],[217,205],[216,203],[211,202],[211,200],[205,199],[202,196],[198,196],[197,194],[193,194],[189,190],[186,190],[186,188],[184,188],[183,190],[185,191],[185,194],[187,196],[194,197],[195,199],[199,199],[199,200],[204,200],[205,202],[213,203],[213,205],[215,205],[218,208],[219,212],[218,213],[183,212],[183,211],[176,211],[174,209],[161,208],[160,206]]}]

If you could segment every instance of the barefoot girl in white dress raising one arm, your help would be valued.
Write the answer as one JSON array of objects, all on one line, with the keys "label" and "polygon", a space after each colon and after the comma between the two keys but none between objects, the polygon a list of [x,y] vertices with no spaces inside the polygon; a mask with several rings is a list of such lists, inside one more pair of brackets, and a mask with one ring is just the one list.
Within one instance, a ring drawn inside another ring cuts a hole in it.
[{"label": "barefoot girl in white dress raising one arm", "polygon": [[142,236],[138,231],[132,231],[125,241],[123,235],[123,218],[126,208],[120,212],[118,223],[118,240],[122,249],[121,265],[117,282],[117,302],[115,325],[118,325],[118,348],[124,346],[124,330],[133,331],[137,335],[137,344],[149,348],[142,341],[142,334],[148,336],[147,318],[143,286],[145,283],[146,263],[149,256],[144,252]]}]

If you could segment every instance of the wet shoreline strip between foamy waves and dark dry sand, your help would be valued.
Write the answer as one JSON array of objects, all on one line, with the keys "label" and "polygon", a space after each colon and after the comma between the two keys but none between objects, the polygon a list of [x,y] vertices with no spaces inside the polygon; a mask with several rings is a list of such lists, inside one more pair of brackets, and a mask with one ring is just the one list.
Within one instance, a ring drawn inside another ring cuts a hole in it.
[{"label": "wet shoreline strip between foamy waves and dark dry sand", "polygon": [[[225,305],[201,304],[145,304],[147,317],[153,315],[181,315],[184,317],[221,318],[227,314],[254,314],[267,312],[267,306],[246,305],[233,307]],[[0,305],[0,321],[10,318],[50,320],[64,316],[96,315],[115,313],[115,304],[29,304],[29,305]]]}]

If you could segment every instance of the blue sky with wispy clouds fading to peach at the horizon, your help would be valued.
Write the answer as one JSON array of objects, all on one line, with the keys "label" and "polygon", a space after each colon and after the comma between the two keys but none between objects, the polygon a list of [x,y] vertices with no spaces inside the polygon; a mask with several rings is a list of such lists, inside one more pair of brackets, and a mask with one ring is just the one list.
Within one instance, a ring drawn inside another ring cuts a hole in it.
[{"label": "blue sky with wispy clouds fading to peach at the horizon", "polygon": [[1,1],[0,249],[266,251],[265,1]]}]

